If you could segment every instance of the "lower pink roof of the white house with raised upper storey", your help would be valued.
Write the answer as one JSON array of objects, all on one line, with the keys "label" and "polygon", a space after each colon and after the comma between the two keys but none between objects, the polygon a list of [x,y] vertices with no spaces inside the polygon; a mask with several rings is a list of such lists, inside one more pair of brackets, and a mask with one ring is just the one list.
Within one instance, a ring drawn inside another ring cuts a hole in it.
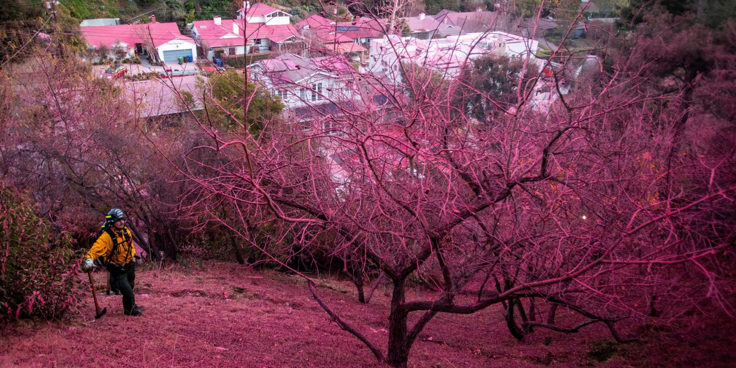
[{"label": "lower pink roof of the white house with raised upper storey", "polygon": [[[245,23],[244,19],[222,19],[222,24],[214,21],[194,21],[193,28],[201,40],[208,46],[237,46],[243,45],[245,39],[268,38],[275,43],[281,43],[299,35],[291,24],[267,26],[263,23]],[[238,34],[233,33],[233,23],[238,26]]]}]

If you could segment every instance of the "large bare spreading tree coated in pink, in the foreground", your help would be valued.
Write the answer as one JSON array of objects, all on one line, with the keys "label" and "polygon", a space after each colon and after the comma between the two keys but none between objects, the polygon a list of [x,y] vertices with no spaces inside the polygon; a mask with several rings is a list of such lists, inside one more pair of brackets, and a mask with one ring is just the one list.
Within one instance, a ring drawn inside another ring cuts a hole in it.
[{"label": "large bare spreading tree coated in pink, in the foreground", "polygon": [[[590,58],[567,62],[581,60]],[[696,144],[670,155],[679,112],[654,114],[669,97],[643,88],[626,57],[613,63],[567,94],[560,75],[569,69],[560,69],[546,79],[556,99],[545,106],[533,98],[542,76],[520,78],[514,105],[492,124],[465,111],[463,101],[483,91],[404,63],[402,85],[361,75],[359,102],[312,90],[336,110],[267,121],[268,135],[226,135],[201,121],[211,141],[197,149],[222,160],[188,162],[200,167],[188,179],[200,196],[229,202],[235,216],[213,217],[238,237],[252,239],[245,229],[253,219],[278,224],[277,238],[289,233],[299,250],[380,269],[392,283],[385,353],[322,300],[315,280],[307,277],[308,286],[341,328],[393,367],[406,367],[441,312],[502,304],[519,338],[535,327],[574,333],[602,323],[619,342],[637,337],[618,331],[623,319],[675,318],[707,299],[730,313],[721,262],[734,224],[723,214],[732,212],[736,185],[718,178],[733,157]],[[411,300],[409,277],[433,286],[436,299]],[[551,311],[547,322],[537,319],[540,303]],[[557,325],[559,307],[578,314],[579,325]]]}]

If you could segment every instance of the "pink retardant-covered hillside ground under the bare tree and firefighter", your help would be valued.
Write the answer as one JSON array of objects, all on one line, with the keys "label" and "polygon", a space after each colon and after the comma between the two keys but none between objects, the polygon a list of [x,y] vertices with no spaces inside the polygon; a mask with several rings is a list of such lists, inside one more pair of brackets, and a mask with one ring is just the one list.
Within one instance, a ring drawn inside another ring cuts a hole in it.
[{"label": "pink retardant-covered hillside ground under the bare tree and firefighter", "polygon": [[[104,274],[95,275],[104,287]],[[124,316],[121,297],[101,297],[107,315],[91,322],[88,294],[63,322],[4,327],[0,367],[382,367],[330,322],[295,276],[218,263],[138,272],[135,289],[147,308],[143,317]],[[327,279],[318,290],[385,349],[386,290],[379,288],[370,305],[355,300],[347,281]],[[408,367],[733,367],[736,338],[729,331],[736,324],[700,321],[626,345],[612,344],[598,326],[573,335],[538,331],[520,343],[506,330],[500,305],[468,316],[440,314],[420,334]]]}]

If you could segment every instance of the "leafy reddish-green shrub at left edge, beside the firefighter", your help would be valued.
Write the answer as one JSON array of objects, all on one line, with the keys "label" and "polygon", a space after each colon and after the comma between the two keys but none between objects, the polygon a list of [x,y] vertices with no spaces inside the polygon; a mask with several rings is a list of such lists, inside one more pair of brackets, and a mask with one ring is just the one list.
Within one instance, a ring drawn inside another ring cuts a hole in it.
[{"label": "leafy reddish-green shrub at left edge, beside the firefighter", "polygon": [[28,197],[0,184],[0,319],[57,319],[79,301],[79,255],[68,235],[50,230]]}]

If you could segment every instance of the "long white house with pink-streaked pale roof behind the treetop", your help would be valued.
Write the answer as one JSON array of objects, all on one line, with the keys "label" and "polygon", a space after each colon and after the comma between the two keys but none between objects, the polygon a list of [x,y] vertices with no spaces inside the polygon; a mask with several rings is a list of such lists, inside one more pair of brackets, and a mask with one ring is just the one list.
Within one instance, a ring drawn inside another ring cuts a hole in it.
[{"label": "long white house with pink-streaked pale roof behind the treetop", "polygon": [[428,68],[445,78],[459,76],[465,63],[484,55],[526,57],[537,52],[539,42],[506,32],[478,32],[467,35],[419,40],[386,36],[371,41],[368,70],[398,85],[402,65]]}]

